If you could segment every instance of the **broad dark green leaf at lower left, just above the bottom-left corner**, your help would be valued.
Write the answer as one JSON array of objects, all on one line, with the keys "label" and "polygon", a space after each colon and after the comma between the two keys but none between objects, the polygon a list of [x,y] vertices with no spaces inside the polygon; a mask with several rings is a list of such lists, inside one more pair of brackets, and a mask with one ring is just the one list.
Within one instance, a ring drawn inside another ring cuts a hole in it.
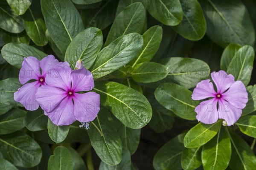
[{"label": "broad dark green leaf at lower left, just above the bottom-left corner", "polygon": [[40,163],[42,150],[38,143],[23,132],[0,136],[4,158],[18,167],[34,167]]}]

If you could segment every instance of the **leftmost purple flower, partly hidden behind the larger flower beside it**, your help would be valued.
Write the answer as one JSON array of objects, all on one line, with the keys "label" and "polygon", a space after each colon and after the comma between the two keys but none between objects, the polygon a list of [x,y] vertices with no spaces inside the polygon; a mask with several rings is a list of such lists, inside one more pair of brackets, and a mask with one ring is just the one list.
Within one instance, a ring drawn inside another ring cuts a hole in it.
[{"label": "leftmost purple flower, partly hidden behind the larger flower beside it", "polygon": [[[25,84],[29,80],[35,80],[23,85],[14,93],[16,102],[20,102],[26,110],[35,111],[38,109],[38,102],[35,100],[35,93],[39,86],[48,84],[47,73],[56,65],[69,66],[68,62],[58,62],[53,55],[44,57],[39,62],[35,57],[24,57],[22,67],[19,73],[21,84]],[[41,68],[41,71],[40,71]]]}]

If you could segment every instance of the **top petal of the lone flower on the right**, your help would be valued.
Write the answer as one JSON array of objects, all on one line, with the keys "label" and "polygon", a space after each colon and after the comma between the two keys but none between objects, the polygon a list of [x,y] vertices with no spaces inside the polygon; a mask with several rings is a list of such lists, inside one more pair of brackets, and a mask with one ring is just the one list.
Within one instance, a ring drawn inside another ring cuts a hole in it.
[{"label": "top petal of the lone flower on the right", "polygon": [[211,73],[212,80],[217,87],[217,92],[222,94],[235,82],[232,74],[227,74],[225,71]]}]

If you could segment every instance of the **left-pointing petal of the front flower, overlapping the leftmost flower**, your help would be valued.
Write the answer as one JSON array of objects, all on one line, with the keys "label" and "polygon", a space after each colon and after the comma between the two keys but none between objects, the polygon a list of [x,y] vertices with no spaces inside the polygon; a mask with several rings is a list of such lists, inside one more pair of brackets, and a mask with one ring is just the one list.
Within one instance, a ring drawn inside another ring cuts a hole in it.
[{"label": "left-pointing petal of the front flower, overlapping the leftmost flower", "polygon": [[50,85],[42,85],[35,94],[35,99],[46,112],[53,111],[67,96],[67,92]]}]

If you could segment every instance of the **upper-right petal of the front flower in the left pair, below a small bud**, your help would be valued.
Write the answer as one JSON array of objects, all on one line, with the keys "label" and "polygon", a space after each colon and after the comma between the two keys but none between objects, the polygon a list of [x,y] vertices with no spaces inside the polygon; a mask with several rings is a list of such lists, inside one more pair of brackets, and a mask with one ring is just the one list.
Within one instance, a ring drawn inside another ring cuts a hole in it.
[{"label": "upper-right petal of the front flower in the left pair, below a small bud", "polygon": [[94,87],[93,75],[86,68],[74,70],[71,73],[72,90],[77,91],[90,91]]}]

